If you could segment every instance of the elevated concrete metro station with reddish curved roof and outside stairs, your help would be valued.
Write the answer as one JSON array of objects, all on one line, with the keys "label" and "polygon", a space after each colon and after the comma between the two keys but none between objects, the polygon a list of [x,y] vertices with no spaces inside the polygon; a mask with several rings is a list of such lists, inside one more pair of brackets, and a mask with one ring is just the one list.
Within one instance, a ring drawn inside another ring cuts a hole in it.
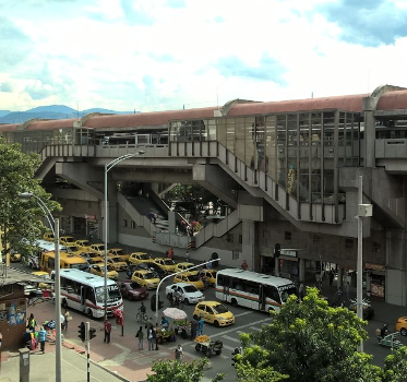
[{"label": "elevated concrete metro station with reddish curved roof and outside stairs", "polygon": [[[363,219],[366,291],[407,305],[406,88],[31,120],[0,126],[0,134],[40,154],[37,177],[62,205],[65,232],[104,239],[105,164],[134,154],[108,174],[109,242],[161,253],[172,247],[195,260],[216,252],[223,265],[246,260],[295,280],[334,267],[339,284],[356,286],[362,176],[363,203],[373,205]],[[224,214],[181,235],[184,216],[163,201],[175,183],[201,184],[227,205]]]}]

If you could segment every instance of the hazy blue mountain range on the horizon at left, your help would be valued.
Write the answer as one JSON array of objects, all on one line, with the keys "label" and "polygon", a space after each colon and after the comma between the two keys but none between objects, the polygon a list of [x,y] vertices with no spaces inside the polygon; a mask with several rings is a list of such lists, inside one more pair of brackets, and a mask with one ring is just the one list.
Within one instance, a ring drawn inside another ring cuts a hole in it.
[{"label": "hazy blue mountain range on the horizon at left", "polygon": [[128,115],[140,111],[115,111],[101,108],[92,108],[82,111],[72,109],[64,105],[38,106],[26,111],[0,110],[0,124],[4,123],[24,123],[34,118],[39,119],[71,119],[86,116],[91,112],[101,112],[110,115]]}]

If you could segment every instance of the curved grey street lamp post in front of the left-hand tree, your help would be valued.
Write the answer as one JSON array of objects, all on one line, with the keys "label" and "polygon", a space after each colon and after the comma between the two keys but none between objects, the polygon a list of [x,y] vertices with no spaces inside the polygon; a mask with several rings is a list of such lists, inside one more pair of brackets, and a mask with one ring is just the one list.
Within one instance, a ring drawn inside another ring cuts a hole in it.
[{"label": "curved grey street lamp post in front of the left-hand tree", "polygon": [[55,303],[56,303],[56,382],[62,381],[62,339],[61,339],[61,279],[60,279],[60,255],[59,255],[59,219],[53,218],[51,212],[40,198],[32,192],[22,192],[19,195],[22,200],[28,201],[34,198],[47,217],[49,227],[55,240]]}]

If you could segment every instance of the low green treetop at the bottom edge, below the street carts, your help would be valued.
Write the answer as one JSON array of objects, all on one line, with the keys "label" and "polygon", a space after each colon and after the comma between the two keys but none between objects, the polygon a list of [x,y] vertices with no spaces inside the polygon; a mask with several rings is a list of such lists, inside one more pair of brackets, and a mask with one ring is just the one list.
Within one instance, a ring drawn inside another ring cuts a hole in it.
[{"label": "low green treetop at the bottom edge, below the street carts", "polygon": [[[208,360],[180,362],[171,360],[154,361],[152,370],[155,374],[147,377],[147,382],[200,382],[204,377],[204,370]],[[170,377],[169,377],[170,375]],[[212,381],[223,381],[224,374],[217,374]]]}]

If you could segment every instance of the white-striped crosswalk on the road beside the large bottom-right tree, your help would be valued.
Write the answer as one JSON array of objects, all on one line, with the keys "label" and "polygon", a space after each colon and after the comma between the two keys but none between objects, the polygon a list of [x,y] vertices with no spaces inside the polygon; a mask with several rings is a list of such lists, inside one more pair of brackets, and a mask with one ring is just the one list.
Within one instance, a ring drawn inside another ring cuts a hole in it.
[{"label": "white-striped crosswalk on the road beside the large bottom-right tree", "polygon": [[[241,346],[239,334],[241,333],[253,333],[253,332],[261,332],[262,326],[264,324],[271,323],[272,320],[264,319],[259,320],[255,322],[248,323],[246,325],[239,325],[239,326],[228,326],[227,330],[224,330],[219,333],[211,335],[211,339],[219,339],[223,343],[223,351],[218,356],[214,356],[216,358],[220,359],[231,359],[232,353],[237,347]],[[182,344],[183,354],[185,357],[191,359],[202,359],[202,353],[197,353],[195,350],[196,343],[194,342],[188,342]],[[171,350],[175,350],[177,346],[170,347]]]}]

